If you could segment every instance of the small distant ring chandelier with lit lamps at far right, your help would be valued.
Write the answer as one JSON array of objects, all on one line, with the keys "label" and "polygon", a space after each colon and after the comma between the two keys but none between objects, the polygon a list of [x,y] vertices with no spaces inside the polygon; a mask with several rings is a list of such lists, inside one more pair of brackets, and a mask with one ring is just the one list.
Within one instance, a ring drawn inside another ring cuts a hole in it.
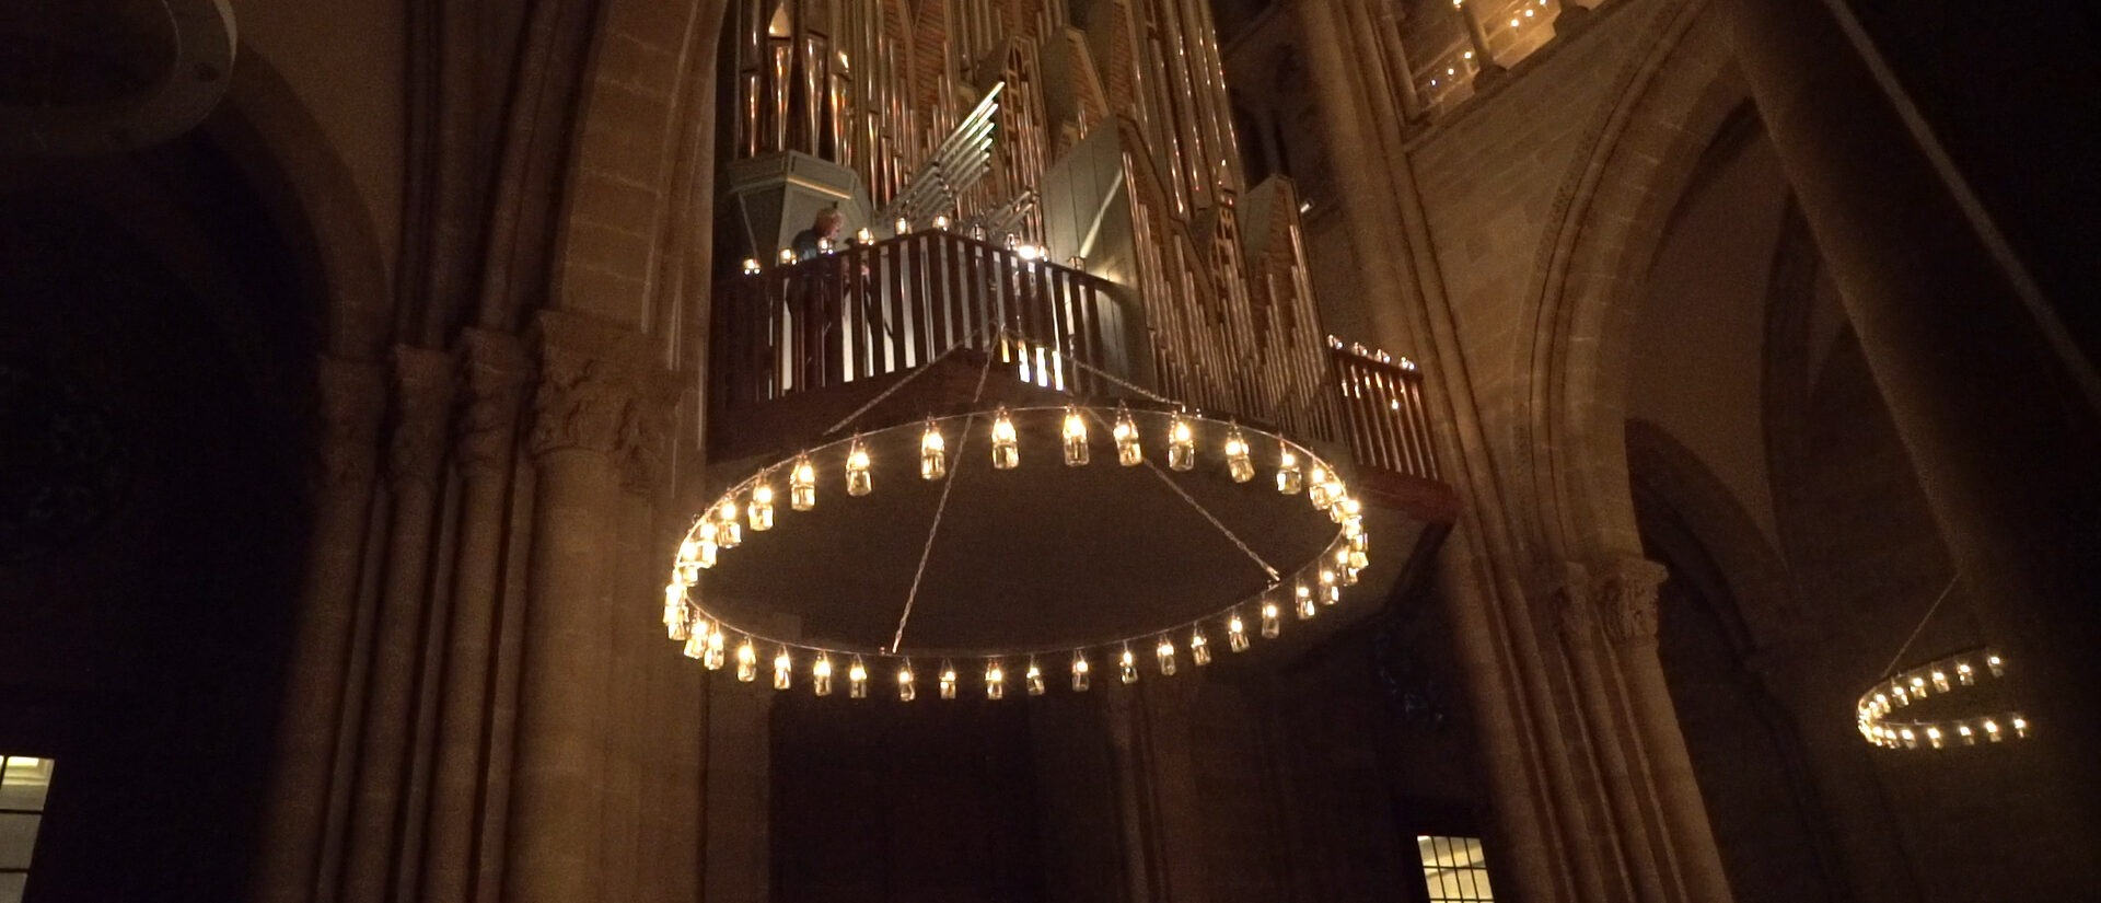
[{"label": "small distant ring chandelier with lit lamps at far right", "polygon": [[2021,712],[1964,712],[1941,718],[1910,718],[1901,710],[1935,695],[1958,695],[1988,680],[2006,676],[2006,659],[1998,649],[1971,649],[1939,662],[1910,668],[1859,695],[1853,706],[1859,735],[1887,750],[1946,750],[1950,743],[2002,743],[2027,737]]}]

